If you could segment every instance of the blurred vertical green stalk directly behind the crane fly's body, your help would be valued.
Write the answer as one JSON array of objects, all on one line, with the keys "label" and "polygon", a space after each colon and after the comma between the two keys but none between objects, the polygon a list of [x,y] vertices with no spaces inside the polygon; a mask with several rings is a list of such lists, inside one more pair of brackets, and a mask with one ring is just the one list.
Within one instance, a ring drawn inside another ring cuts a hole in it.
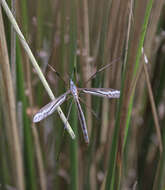
[{"label": "blurred vertical green stalk directly behind the crane fly's body", "polygon": [[[76,50],[77,50],[77,1],[72,0],[70,5],[70,73],[77,69]],[[75,78],[75,77],[74,77]],[[74,80],[74,79],[73,79]],[[71,125],[77,134],[77,111],[74,104],[71,112]],[[77,136],[77,135],[76,135]],[[71,190],[78,189],[78,137],[70,143],[70,164],[71,164]]]}]

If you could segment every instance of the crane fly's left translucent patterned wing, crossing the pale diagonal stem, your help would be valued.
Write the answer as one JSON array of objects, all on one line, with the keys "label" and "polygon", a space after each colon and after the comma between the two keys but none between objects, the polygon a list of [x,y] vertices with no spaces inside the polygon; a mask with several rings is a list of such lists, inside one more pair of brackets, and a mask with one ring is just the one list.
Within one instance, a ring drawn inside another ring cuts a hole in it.
[{"label": "crane fly's left translucent patterned wing, crossing the pale diagonal stem", "polygon": [[66,93],[59,96],[57,99],[53,100],[52,102],[48,103],[44,107],[42,107],[33,117],[33,122],[37,123],[44,118],[46,118],[48,115],[51,115],[58,106],[60,106],[65,100],[67,95],[70,93],[70,90],[68,90]]}]

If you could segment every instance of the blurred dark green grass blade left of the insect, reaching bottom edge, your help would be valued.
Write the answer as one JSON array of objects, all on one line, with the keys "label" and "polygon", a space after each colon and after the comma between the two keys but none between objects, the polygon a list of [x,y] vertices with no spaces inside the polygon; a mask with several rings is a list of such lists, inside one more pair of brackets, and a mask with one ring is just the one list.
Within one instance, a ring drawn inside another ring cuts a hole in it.
[{"label": "blurred dark green grass blade left of the insect, reaching bottom edge", "polygon": [[25,172],[27,175],[26,180],[28,183],[26,184],[29,189],[35,190],[36,187],[36,171],[35,171],[35,164],[34,164],[34,149],[33,149],[33,141],[32,141],[32,131],[30,127],[30,121],[27,117],[26,110],[27,110],[27,99],[24,94],[24,79],[23,79],[23,70],[21,65],[21,51],[18,44],[18,40],[16,42],[17,44],[17,101],[22,102],[22,117],[23,117],[23,136],[24,136],[24,155],[25,155]]}]

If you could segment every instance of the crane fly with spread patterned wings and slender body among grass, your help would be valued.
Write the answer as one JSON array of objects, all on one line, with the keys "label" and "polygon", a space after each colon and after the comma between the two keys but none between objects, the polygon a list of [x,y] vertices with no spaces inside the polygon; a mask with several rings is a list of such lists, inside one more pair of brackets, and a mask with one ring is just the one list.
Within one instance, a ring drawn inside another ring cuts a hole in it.
[{"label": "crane fly with spread patterned wings and slender body among grass", "polygon": [[73,100],[77,106],[78,110],[78,117],[80,121],[80,125],[83,131],[84,139],[86,143],[89,143],[89,137],[87,132],[87,126],[85,121],[85,116],[82,111],[80,101],[79,101],[79,93],[87,93],[96,96],[101,96],[105,98],[119,98],[120,91],[114,90],[111,88],[77,88],[74,84],[73,80],[70,80],[70,89],[59,96],[57,99],[53,100],[52,102],[48,103],[44,107],[42,107],[33,117],[33,122],[37,123],[47,116],[51,115],[54,111],[56,111],[57,107],[60,106],[68,97],[69,94],[72,94]]}]

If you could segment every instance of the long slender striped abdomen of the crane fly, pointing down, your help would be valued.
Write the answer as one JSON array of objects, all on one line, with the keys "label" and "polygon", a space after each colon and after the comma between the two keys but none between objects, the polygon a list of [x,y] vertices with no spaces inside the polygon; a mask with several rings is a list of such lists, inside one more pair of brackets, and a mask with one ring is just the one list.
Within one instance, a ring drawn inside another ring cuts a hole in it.
[{"label": "long slender striped abdomen of the crane fly, pointing down", "polygon": [[76,99],[75,101],[76,101],[76,105],[77,105],[77,109],[78,109],[78,117],[79,117],[81,128],[83,131],[84,139],[85,139],[85,142],[88,144],[89,143],[89,137],[88,137],[88,131],[87,131],[87,126],[86,126],[85,116],[84,116],[84,113],[82,111],[79,100]]}]

